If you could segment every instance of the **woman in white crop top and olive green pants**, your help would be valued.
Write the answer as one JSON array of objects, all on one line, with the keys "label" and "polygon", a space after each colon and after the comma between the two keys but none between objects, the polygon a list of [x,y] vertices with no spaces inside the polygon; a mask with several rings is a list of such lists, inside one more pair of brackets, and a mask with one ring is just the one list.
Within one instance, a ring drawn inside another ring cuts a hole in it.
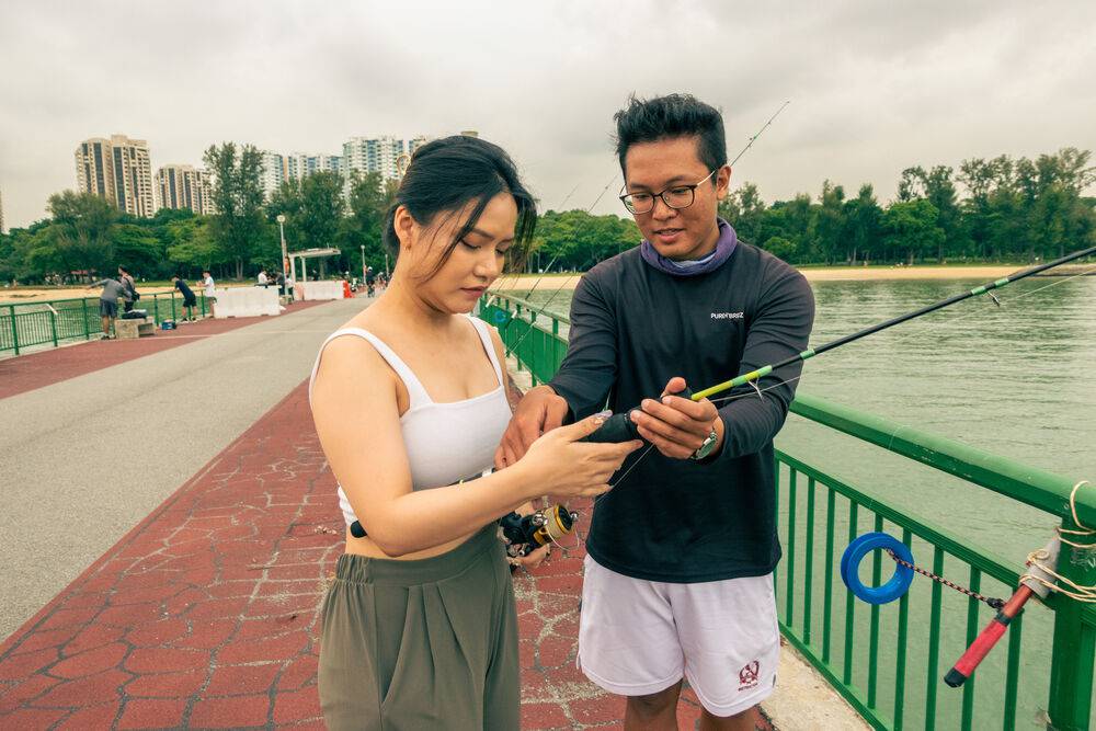
[{"label": "woman in white crop top and olive green pants", "polygon": [[501,148],[419,148],[388,214],[391,284],[317,358],[316,427],[346,524],[366,533],[347,530],[323,606],[330,729],[517,729],[517,623],[495,521],[537,495],[605,492],[640,445],[578,442],[592,418],[483,476],[511,412],[499,335],[467,312],[535,222]]}]

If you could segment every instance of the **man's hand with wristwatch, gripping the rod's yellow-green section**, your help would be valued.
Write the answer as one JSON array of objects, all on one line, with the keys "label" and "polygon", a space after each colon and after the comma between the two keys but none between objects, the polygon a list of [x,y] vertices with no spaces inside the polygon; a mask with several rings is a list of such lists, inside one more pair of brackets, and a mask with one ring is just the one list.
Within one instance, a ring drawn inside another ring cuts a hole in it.
[{"label": "man's hand with wristwatch, gripping the rod's yellow-green section", "polygon": [[718,454],[723,447],[723,420],[708,399],[694,401],[680,396],[667,396],[684,388],[684,378],[671,378],[662,392],[662,399],[644,399],[640,404],[642,410],[631,412],[631,421],[639,429],[640,436],[673,459],[687,459],[715,429],[716,448],[711,454]]}]

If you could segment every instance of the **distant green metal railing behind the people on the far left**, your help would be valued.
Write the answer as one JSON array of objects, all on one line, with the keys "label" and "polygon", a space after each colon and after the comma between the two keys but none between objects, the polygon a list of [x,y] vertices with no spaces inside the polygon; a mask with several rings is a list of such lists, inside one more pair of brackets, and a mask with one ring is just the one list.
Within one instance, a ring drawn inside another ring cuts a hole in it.
[{"label": "distant green metal railing behind the people on the far left", "polygon": [[[196,297],[194,309],[205,317],[205,294]],[[183,299],[174,292],[142,294],[134,307],[147,310],[158,325],[184,313]],[[98,297],[0,305],[0,353],[19,355],[28,347],[47,344],[56,347],[71,340],[96,338],[101,332]]]}]

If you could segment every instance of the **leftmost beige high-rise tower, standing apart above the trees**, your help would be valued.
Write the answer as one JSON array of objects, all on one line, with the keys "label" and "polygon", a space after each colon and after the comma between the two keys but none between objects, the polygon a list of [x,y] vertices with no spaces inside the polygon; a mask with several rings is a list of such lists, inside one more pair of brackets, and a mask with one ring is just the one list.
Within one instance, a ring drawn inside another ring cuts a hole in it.
[{"label": "leftmost beige high-rise tower, standing apart above the trees", "polygon": [[81,193],[94,193],[132,216],[156,213],[152,162],[148,142],[111,135],[93,137],[76,148],[76,179]]}]

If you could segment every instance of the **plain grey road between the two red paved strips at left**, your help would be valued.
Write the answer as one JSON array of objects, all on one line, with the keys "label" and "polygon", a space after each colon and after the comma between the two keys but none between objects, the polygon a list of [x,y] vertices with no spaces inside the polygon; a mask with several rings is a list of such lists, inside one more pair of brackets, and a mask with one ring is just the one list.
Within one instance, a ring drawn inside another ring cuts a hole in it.
[{"label": "plain grey road between the two red paved strips at left", "polygon": [[3,399],[0,637],[293,390],[367,304],[264,318]]}]

